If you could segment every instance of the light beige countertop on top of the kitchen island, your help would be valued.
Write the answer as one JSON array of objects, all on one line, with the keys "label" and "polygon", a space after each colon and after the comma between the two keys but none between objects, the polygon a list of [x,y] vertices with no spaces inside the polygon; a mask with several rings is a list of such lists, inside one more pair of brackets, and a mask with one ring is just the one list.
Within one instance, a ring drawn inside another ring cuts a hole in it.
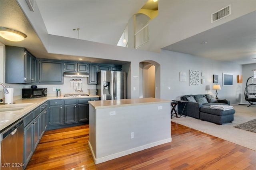
[{"label": "light beige countertop on top of the kitchen island", "polygon": [[153,97],[140,99],[119,99],[119,100],[104,100],[104,101],[89,101],[94,109],[104,109],[110,107],[122,107],[128,105],[145,105],[154,103],[171,103],[170,100],[157,99]]}]

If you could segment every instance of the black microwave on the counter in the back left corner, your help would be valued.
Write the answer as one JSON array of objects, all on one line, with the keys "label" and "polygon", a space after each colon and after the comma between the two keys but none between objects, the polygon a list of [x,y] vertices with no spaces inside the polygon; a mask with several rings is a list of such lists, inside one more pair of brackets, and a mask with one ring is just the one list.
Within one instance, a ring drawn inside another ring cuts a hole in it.
[{"label": "black microwave on the counter in the back left corner", "polygon": [[36,98],[36,97],[46,97],[47,88],[37,88],[37,89],[22,89],[22,98]]}]

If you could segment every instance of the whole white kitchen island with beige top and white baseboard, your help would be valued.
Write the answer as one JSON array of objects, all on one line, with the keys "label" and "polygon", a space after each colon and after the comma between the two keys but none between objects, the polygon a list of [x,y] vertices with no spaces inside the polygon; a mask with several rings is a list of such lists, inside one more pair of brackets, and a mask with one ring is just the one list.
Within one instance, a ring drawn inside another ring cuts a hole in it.
[{"label": "whole white kitchen island with beige top and white baseboard", "polygon": [[89,147],[95,164],[171,142],[170,102],[89,101]]}]

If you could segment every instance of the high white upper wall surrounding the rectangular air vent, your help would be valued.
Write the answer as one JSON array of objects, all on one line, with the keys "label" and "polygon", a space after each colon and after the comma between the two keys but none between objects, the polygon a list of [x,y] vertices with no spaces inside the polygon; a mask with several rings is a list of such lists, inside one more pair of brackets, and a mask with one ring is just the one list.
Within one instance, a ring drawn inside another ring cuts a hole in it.
[{"label": "high white upper wall surrounding the rectangular air vent", "polygon": [[[231,4],[231,15],[211,23],[211,14]],[[252,0],[160,0],[158,16],[149,22],[150,40],[140,49],[160,51],[179,42],[256,10]],[[170,36],[166,36],[170,35]]]}]

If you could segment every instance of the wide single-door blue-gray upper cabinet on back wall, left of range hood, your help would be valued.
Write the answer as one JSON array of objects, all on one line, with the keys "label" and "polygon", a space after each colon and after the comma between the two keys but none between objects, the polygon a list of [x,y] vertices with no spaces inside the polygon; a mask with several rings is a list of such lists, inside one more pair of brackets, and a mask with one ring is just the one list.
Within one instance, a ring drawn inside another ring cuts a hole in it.
[{"label": "wide single-door blue-gray upper cabinet on back wall, left of range hood", "polygon": [[39,60],[39,79],[42,84],[63,84],[64,62]]}]

